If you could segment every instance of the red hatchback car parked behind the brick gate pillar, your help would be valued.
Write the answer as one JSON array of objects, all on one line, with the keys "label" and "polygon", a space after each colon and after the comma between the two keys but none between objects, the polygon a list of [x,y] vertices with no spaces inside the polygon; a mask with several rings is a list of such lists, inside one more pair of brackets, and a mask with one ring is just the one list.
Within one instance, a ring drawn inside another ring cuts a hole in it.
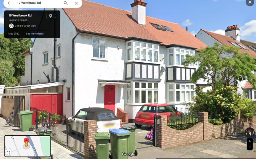
[{"label": "red hatchback car parked behind the brick gate pillar", "polygon": [[144,104],[135,116],[135,126],[138,128],[142,125],[154,126],[154,115],[167,115],[169,119],[172,114],[180,114],[172,104]]}]

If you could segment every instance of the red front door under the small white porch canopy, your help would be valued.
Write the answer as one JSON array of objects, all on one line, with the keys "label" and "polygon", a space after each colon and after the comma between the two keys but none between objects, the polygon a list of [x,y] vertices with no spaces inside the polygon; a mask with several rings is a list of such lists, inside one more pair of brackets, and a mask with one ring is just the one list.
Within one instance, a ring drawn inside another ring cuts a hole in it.
[{"label": "red front door under the small white porch canopy", "polygon": [[115,113],[115,85],[104,87],[104,108],[113,110]]}]

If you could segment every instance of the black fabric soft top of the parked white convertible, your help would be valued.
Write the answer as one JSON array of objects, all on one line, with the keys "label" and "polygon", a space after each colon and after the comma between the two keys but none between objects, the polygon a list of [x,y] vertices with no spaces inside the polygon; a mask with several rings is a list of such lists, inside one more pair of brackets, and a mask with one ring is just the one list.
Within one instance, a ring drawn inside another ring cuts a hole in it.
[{"label": "black fabric soft top of the parked white convertible", "polygon": [[[119,119],[118,117],[115,116],[113,110],[109,110],[109,109],[105,109],[105,108],[83,108],[80,110],[87,112],[87,120],[108,121],[108,120],[118,120]],[[101,113],[113,113],[115,117],[99,120],[98,114],[101,114]]]}]

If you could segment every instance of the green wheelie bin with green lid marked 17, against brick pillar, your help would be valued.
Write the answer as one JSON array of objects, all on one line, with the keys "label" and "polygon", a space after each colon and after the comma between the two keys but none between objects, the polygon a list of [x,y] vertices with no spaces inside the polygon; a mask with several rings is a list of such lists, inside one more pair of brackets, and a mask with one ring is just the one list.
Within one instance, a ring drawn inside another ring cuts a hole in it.
[{"label": "green wheelie bin with green lid marked 17, against brick pillar", "polygon": [[94,135],[96,141],[97,159],[109,159],[109,132],[99,132]]}]

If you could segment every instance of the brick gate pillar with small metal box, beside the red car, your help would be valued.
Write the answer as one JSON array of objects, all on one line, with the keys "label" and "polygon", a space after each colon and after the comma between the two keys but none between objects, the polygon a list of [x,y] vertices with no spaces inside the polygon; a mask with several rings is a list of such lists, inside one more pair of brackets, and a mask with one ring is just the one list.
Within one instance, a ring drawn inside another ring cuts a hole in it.
[{"label": "brick gate pillar with small metal box, beside the red car", "polygon": [[[167,116],[156,116],[156,147],[165,148],[165,137],[167,134]],[[159,123],[158,123],[159,122]]]}]

